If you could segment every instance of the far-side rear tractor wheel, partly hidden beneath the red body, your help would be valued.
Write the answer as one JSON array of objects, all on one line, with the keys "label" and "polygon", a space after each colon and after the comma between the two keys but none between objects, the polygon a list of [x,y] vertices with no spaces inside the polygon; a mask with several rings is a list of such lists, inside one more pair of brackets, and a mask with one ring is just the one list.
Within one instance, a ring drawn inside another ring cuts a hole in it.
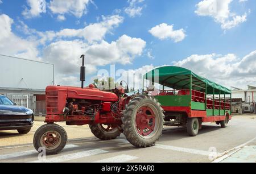
[{"label": "far-side rear tractor wheel, partly hidden beneath the red body", "polygon": [[96,124],[90,125],[89,127],[93,135],[101,140],[115,139],[121,134],[118,127],[113,125]]}]

